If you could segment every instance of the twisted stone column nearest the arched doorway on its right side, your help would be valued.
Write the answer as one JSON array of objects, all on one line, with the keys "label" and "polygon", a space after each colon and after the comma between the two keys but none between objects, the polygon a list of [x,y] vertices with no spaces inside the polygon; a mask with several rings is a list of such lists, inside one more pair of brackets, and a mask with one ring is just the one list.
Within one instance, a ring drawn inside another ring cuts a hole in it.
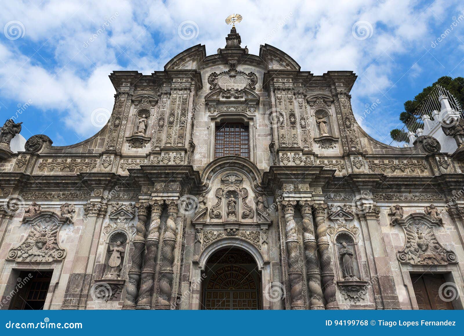
[{"label": "twisted stone column nearest the arched doorway on its right side", "polygon": [[282,201],[285,218],[285,244],[287,245],[288,274],[290,282],[291,309],[305,309],[303,284],[296,223],[294,219],[296,201]]}]

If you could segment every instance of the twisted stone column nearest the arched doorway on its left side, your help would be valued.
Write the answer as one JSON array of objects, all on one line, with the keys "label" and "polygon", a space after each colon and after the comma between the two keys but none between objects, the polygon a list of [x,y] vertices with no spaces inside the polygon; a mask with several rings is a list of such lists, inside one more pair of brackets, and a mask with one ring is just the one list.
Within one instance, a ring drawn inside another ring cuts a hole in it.
[{"label": "twisted stone column nearest the arched doorway on its left side", "polygon": [[177,217],[177,204],[179,204],[179,201],[167,199],[166,204],[168,205],[168,219],[166,220],[166,229],[164,230],[163,245],[161,247],[160,293],[156,309],[170,309],[174,276],[174,248],[177,238],[175,219]]}]

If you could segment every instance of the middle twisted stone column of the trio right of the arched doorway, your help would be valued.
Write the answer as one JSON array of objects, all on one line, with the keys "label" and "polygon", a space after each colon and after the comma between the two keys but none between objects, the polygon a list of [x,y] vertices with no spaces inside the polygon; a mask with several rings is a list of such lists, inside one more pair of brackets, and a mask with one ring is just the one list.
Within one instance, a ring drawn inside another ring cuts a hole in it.
[{"label": "middle twisted stone column of the trio right of the arched doorway", "polygon": [[319,269],[319,258],[317,257],[317,244],[314,237],[314,225],[311,212],[313,201],[300,201],[301,215],[303,221],[303,246],[306,262],[306,274],[308,276],[308,289],[310,295],[310,306],[312,310],[324,310],[321,290],[321,270]]}]

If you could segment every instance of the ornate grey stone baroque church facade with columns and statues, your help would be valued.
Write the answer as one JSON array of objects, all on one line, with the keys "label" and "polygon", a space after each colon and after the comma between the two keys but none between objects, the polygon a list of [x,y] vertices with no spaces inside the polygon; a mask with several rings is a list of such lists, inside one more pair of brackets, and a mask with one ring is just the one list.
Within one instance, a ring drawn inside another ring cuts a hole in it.
[{"label": "ornate grey stone baroque church facade with columns and statues", "polygon": [[240,44],[111,73],[111,117],[75,145],[13,153],[7,121],[2,309],[463,308],[464,164],[368,136],[353,72]]}]

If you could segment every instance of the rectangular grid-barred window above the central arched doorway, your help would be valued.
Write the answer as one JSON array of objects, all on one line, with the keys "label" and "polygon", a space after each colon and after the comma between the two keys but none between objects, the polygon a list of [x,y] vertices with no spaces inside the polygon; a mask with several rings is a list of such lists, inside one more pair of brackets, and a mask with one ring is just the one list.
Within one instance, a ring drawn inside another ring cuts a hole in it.
[{"label": "rectangular grid-barred window above the central arched doorway", "polygon": [[240,123],[224,123],[216,128],[215,158],[226,155],[237,155],[250,158],[250,137],[248,125]]}]

